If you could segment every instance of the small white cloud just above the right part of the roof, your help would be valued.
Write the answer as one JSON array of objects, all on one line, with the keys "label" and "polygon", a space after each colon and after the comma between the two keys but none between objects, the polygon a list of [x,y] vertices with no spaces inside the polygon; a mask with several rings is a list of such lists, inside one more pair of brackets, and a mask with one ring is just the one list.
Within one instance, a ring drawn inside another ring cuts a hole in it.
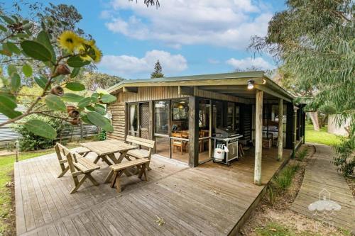
[{"label": "small white cloud just above the right part of the roof", "polygon": [[275,66],[273,66],[271,63],[264,60],[263,57],[256,57],[256,58],[246,57],[241,60],[231,58],[229,60],[226,60],[226,64],[230,64],[232,67],[234,67],[234,69],[248,69],[251,67],[256,67],[261,69],[275,68]]}]

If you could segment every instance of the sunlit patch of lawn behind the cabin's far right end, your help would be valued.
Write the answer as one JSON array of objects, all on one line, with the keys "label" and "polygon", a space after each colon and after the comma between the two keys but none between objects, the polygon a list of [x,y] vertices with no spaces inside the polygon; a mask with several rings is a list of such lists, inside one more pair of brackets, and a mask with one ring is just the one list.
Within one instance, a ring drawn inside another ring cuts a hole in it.
[{"label": "sunlit patch of lawn behind the cabin's far right end", "polygon": [[324,145],[336,145],[341,142],[341,139],[337,135],[332,133],[327,133],[327,127],[322,127],[320,131],[313,130],[313,125],[306,125],[305,127],[305,141],[306,142],[317,142]]}]

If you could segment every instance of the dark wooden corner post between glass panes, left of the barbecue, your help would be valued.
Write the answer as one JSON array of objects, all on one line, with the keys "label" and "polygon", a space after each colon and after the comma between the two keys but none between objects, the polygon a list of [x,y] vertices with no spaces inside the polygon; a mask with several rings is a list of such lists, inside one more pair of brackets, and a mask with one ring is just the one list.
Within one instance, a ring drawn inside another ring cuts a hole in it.
[{"label": "dark wooden corner post between glass panes, left of the barbecue", "polygon": [[196,96],[189,96],[189,166],[197,167],[199,162],[199,102]]}]

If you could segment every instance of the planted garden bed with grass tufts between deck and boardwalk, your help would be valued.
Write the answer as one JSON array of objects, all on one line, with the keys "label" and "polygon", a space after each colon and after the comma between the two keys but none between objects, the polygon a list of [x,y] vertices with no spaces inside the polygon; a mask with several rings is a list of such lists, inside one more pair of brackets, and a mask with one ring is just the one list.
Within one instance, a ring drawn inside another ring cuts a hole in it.
[{"label": "planted garden bed with grass tufts between deck and boardwalk", "polygon": [[[307,150],[307,151],[305,151]],[[241,227],[241,235],[349,235],[334,227],[317,228],[317,221],[305,215],[290,210],[302,185],[305,166],[312,159],[315,147],[302,145],[297,152],[296,159],[291,159],[284,169],[278,174],[283,174],[285,169],[298,166],[293,175],[292,184],[287,189],[280,189],[275,183],[268,189],[256,210]],[[271,190],[272,189],[272,190]]]}]

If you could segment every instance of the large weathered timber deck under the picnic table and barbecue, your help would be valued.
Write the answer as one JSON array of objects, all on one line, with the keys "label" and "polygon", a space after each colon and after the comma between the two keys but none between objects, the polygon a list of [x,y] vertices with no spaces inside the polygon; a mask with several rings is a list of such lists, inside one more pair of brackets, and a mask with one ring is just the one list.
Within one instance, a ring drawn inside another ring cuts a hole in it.
[{"label": "large weathered timber deck under the picnic table and barbecue", "polygon": [[[263,184],[285,162],[263,150]],[[284,150],[284,159],[291,150]],[[94,158],[94,157],[88,157]],[[109,171],[93,176],[102,183]],[[253,184],[253,150],[231,167],[197,168],[153,155],[149,181],[122,177],[122,193],[87,181],[77,193],[70,174],[58,179],[55,154],[15,164],[18,235],[228,235],[248,218],[265,191]],[[165,220],[159,226],[157,215]]]}]

